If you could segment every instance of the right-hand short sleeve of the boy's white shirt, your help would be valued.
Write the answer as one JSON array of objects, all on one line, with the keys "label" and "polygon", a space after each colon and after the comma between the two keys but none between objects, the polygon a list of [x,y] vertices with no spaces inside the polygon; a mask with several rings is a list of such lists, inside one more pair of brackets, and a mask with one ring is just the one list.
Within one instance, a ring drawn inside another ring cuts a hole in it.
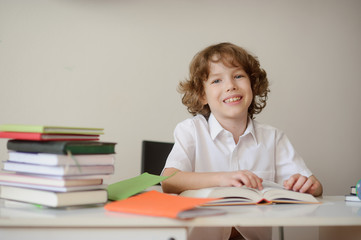
[{"label": "right-hand short sleeve of the boy's white shirt", "polygon": [[278,130],[276,138],[276,181],[282,183],[296,173],[310,177],[312,172],[295,151],[288,137]]}]

